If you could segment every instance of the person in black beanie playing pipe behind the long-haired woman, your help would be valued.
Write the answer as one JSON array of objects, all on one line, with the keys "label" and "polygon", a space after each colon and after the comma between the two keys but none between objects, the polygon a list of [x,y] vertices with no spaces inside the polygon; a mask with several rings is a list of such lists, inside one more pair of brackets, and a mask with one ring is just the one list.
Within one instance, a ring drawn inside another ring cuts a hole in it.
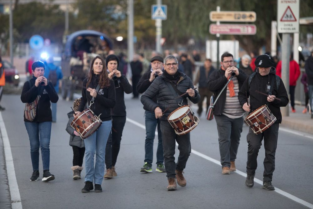
[{"label": "person in black beanie playing pipe behind the long-haired woman", "polygon": [[105,179],[111,179],[117,176],[115,171],[115,163],[117,155],[120,151],[123,129],[126,123],[126,106],[124,102],[124,92],[131,94],[132,86],[128,82],[125,75],[117,70],[119,58],[116,55],[109,55],[105,59],[105,64],[108,70],[108,77],[114,80],[116,103],[112,109],[112,131],[109,135],[105,147]]}]

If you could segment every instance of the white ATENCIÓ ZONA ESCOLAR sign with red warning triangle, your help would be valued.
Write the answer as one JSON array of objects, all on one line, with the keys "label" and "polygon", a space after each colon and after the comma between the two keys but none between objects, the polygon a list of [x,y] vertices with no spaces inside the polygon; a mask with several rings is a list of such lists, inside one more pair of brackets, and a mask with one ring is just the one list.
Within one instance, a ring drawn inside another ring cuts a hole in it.
[{"label": "white ATENCI\u00d3 ZONA ESCOLAR sign with red warning triangle", "polygon": [[279,33],[299,32],[300,1],[277,0],[277,31]]}]

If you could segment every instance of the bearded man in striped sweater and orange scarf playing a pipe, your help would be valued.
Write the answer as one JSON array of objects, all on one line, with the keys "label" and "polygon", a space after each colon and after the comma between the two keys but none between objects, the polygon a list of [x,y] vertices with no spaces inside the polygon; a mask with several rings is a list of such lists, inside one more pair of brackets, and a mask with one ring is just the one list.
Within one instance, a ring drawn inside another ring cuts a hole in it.
[{"label": "bearded man in striped sweater and orange scarf playing a pipe", "polygon": [[244,110],[239,103],[238,92],[246,78],[244,71],[234,66],[233,55],[225,52],[221,57],[221,68],[213,71],[208,80],[214,99],[230,80],[214,106],[222,174],[236,171],[235,159],[244,123]]}]

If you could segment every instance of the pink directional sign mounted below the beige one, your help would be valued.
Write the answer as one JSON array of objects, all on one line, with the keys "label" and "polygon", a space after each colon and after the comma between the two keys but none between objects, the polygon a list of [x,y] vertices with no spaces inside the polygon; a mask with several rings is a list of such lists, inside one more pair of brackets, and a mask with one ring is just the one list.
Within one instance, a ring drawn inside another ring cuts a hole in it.
[{"label": "pink directional sign mounted below the beige one", "polygon": [[253,24],[211,24],[211,34],[227,34],[227,35],[254,35],[256,26]]}]

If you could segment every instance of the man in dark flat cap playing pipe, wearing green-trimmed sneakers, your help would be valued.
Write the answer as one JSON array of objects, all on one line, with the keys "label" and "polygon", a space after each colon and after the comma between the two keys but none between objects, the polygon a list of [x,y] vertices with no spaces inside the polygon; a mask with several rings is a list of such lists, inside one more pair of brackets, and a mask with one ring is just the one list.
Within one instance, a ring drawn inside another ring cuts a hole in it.
[{"label": "man in dark flat cap playing pipe, wearing green-trimmed sneakers", "polygon": [[[163,74],[163,57],[154,56],[151,59],[151,70],[143,74],[137,84],[137,91],[144,93],[157,76]],[[156,97],[152,99],[156,103]],[[145,140],[145,164],[140,169],[142,173],[152,173],[153,160],[153,141],[157,127],[158,144],[156,149],[156,171],[165,172],[164,157],[163,157],[163,143],[160,128],[160,119],[155,117],[154,112],[149,111],[145,106],[145,122],[146,122],[146,140]]]}]

